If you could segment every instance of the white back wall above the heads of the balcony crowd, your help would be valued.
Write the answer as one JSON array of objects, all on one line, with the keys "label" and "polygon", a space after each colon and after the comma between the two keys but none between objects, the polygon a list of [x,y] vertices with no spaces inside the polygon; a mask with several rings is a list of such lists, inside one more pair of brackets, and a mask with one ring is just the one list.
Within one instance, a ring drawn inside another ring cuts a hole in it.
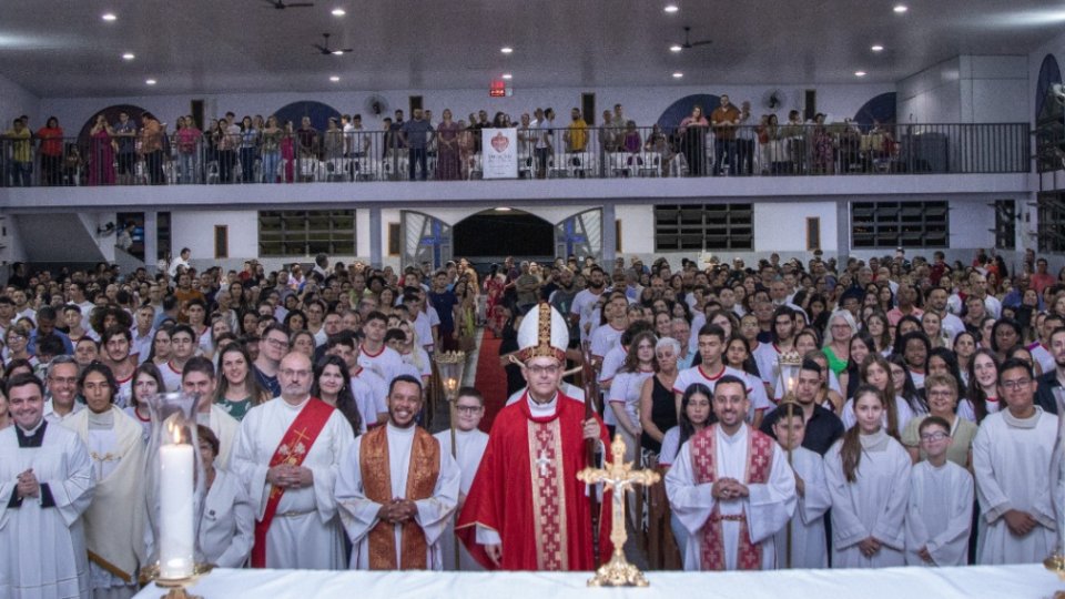
[{"label": "white back wall above the heads of the balcony crowd", "polygon": [[[408,113],[408,97],[422,95],[424,105],[439,120],[445,108],[455,113],[455,120],[466,119],[469,112],[487,110],[489,115],[503,111],[515,119],[523,112],[532,112],[532,109],[551,106],[558,113],[558,121],[568,120],[569,110],[580,105],[580,94],[596,93],[597,115],[604,109],[612,108],[620,102],[625,106],[625,115],[632,119],[638,125],[650,125],[674,101],[690,94],[712,93],[729,94],[732,102],[739,104],[750,100],[752,112],[761,114],[768,112],[761,105],[761,98],[769,89],[780,89],[787,99],[783,109],[778,114],[785,116],[789,109],[799,108],[803,90],[818,91],[818,110],[833,119],[842,120],[853,116],[855,112],[870,99],[885,92],[895,91],[892,84],[852,84],[852,85],[728,85],[713,88],[706,87],[668,87],[668,88],[561,88],[561,89],[531,89],[518,88],[514,95],[508,98],[488,98],[487,90],[392,90],[381,92],[389,104],[390,116],[395,109],[403,109]],[[363,122],[367,129],[377,130],[379,121],[371,119],[364,108],[369,92],[331,92],[331,93],[260,93],[260,94],[222,94],[203,95],[145,95],[133,98],[49,98],[41,101],[42,113],[55,114],[68,129],[80,128],[97,111],[114,104],[133,104],[154,112],[164,122],[173,123],[175,116],[190,112],[190,101],[205,100],[205,116],[207,119],[224,115],[233,111],[237,116],[244,114],[267,115],[291,102],[301,100],[316,100],[335,108],[342,113],[363,113]],[[407,114],[409,118],[409,114]]]}]

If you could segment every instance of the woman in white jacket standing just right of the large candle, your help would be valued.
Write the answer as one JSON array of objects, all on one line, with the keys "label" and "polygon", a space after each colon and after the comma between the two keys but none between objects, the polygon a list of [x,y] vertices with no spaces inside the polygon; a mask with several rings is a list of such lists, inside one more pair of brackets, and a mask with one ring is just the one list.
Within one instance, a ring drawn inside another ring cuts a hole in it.
[{"label": "woman in white jacket standing just right of the large candle", "polygon": [[217,464],[219,437],[210,428],[196,427],[200,458],[207,481],[207,496],[200,517],[200,549],[204,560],[220,568],[242,568],[255,540],[255,514],[244,484]]}]

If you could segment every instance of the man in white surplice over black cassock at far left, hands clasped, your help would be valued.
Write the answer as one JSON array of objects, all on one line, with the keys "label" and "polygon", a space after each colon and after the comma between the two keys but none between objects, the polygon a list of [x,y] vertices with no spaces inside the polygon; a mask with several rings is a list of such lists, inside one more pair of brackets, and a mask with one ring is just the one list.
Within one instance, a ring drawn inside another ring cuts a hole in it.
[{"label": "man in white surplice over black cassock at far left, hands clasped", "polygon": [[88,599],[89,451],[75,433],[44,420],[36,376],[16,375],[7,393],[14,426],[0,430],[0,597]]}]

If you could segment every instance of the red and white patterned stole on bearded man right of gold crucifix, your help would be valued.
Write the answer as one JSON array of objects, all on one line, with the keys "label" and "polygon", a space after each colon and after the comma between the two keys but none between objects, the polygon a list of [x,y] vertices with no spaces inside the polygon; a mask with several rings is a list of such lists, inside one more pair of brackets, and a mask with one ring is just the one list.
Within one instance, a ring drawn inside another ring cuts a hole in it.
[{"label": "red and white patterned stole on bearded man right of gold crucifix", "polygon": [[[718,426],[711,425],[691,438],[691,469],[696,484],[713,484],[718,479]],[[764,485],[773,469],[773,439],[753,428],[747,430],[747,466],[744,485]],[[699,561],[702,570],[724,570],[724,531],[721,514],[714,504],[713,511],[702,527],[699,540]],[[737,547],[736,569],[761,570],[762,544],[752,544],[747,528],[747,514],[739,518],[740,538]]]}]

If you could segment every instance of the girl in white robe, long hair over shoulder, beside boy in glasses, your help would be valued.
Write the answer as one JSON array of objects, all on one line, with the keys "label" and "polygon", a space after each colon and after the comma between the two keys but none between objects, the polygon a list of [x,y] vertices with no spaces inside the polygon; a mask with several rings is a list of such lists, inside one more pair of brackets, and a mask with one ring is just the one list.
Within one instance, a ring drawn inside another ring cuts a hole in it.
[{"label": "girl in white robe, long hair over shoulder, beside boy in glasses", "polygon": [[854,393],[858,425],[824,456],[832,496],[832,567],[882,568],[906,562],[904,517],[912,460],[882,420],[884,393]]}]

